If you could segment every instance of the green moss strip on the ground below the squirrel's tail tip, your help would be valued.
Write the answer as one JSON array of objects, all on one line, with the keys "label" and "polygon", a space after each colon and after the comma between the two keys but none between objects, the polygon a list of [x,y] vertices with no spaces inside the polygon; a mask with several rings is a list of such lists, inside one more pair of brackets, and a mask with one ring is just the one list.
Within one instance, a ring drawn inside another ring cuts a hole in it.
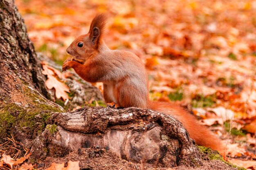
[{"label": "green moss strip on the ground below the squirrel's tail tip", "polygon": [[233,165],[232,163],[225,161],[217,151],[213,151],[213,150],[211,150],[211,148],[207,148],[205,146],[198,146],[198,148],[199,148],[200,153],[202,155],[206,155],[209,158],[209,160],[219,160],[219,161],[224,162],[228,166],[236,168],[237,170],[246,170],[245,168],[238,167],[236,165]]}]

